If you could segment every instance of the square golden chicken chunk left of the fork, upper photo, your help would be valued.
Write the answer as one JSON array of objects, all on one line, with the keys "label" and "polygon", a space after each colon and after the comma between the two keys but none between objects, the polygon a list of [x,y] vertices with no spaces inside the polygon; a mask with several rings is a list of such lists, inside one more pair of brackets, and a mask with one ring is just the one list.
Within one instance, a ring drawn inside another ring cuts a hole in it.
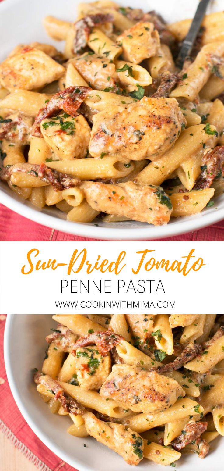
[{"label": "square golden chicken chunk left of the fork, upper photo", "polygon": [[144,59],[156,55],[160,47],[160,35],[153,23],[140,21],[120,34],[117,42],[122,45],[124,60],[140,64]]}]

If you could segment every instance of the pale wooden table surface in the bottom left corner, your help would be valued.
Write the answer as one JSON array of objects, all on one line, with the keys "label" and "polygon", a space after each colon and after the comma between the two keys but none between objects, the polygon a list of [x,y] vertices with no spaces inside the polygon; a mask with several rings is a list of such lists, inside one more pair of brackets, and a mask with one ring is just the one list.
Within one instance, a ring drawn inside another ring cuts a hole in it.
[{"label": "pale wooden table surface in the bottom left corner", "polygon": [[1,471],[37,471],[21,451],[17,450],[9,439],[0,431],[0,470]]}]

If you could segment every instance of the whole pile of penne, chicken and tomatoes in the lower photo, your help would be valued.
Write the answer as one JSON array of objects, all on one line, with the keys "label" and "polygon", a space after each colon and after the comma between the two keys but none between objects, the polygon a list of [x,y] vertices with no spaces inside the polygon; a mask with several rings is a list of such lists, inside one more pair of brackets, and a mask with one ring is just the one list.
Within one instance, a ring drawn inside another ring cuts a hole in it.
[{"label": "whole pile of penne, chicken and tomatoes in the lower photo", "polygon": [[144,458],[172,466],[189,451],[205,457],[224,436],[222,316],[53,319],[34,381],[50,412],[71,419],[70,435],[90,435],[129,464]]}]

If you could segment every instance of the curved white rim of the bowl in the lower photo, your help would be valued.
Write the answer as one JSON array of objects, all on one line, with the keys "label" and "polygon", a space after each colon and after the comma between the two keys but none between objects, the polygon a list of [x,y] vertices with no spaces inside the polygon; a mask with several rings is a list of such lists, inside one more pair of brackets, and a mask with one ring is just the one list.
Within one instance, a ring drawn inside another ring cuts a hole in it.
[{"label": "curved white rim of the bowl in the lower photo", "polygon": [[[5,324],[5,331],[4,331],[4,342],[3,342],[3,350],[4,350],[4,362],[6,368],[6,374],[8,379],[8,384],[13,395],[13,398],[16,402],[16,406],[18,407],[20,413],[24,417],[25,421],[28,423],[31,430],[37,435],[37,437],[41,440],[41,442],[49,448],[51,452],[53,452],[56,456],[62,459],[65,463],[69,464],[70,466],[78,466],[77,471],[92,471],[92,468],[87,464],[83,465],[80,460],[78,460],[75,456],[70,459],[66,452],[63,449],[59,449],[54,442],[48,437],[47,433],[40,430],[39,426],[34,422],[32,416],[26,410],[24,403],[20,397],[19,390],[16,387],[16,383],[14,381],[12,368],[11,368],[11,354],[10,354],[10,332],[11,327],[14,321],[14,317],[19,316],[19,314],[8,314],[6,317],[6,324]],[[25,314],[25,316],[29,316],[29,314]]]}]

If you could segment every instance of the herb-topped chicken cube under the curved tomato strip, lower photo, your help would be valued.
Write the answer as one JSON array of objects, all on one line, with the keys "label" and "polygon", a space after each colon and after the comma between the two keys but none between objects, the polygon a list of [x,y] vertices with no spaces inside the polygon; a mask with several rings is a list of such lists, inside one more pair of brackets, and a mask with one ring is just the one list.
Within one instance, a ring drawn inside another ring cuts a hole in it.
[{"label": "herb-topped chicken cube under the curved tomato strip, lower photo", "polygon": [[99,390],[111,372],[110,353],[103,357],[92,345],[77,349],[75,369],[81,388]]}]

